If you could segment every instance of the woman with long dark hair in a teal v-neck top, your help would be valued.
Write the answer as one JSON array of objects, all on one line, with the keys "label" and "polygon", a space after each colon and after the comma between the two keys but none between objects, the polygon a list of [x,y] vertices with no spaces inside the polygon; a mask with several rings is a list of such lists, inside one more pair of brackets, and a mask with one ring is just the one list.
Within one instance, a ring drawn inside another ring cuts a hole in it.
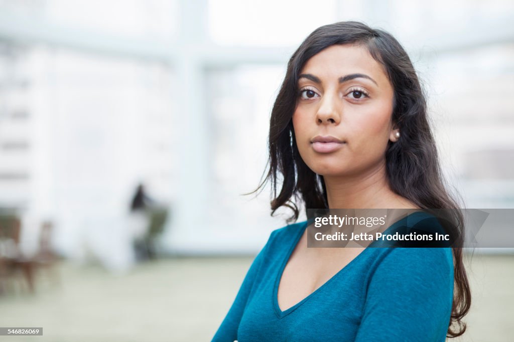
[{"label": "woman with long dark hair in a teal v-neck top", "polygon": [[455,243],[307,248],[307,223],[287,225],[254,259],[214,341],[443,341],[464,333],[471,296],[463,219],[445,189],[426,108],[412,63],[389,33],[341,22],[306,38],[271,112],[260,188],[273,184],[272,214],[287,206],[296,220],[302,205],[450,208],[445,228]]}]

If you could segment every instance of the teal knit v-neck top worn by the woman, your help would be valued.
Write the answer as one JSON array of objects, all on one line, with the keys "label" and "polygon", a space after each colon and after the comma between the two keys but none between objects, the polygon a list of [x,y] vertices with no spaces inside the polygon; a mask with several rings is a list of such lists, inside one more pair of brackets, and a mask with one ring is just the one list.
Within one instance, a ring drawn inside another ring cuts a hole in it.
[{"label": "teal knit v-neck top worn by the woman", "polygon": [[[388,231],[427,215],[408,215]],[[447,247],[369,246],[316,291],[282,311],[279,282],[306,227],[304,221],[271,232],[213,341],[446,339],[453,300],[453,259]]]}]

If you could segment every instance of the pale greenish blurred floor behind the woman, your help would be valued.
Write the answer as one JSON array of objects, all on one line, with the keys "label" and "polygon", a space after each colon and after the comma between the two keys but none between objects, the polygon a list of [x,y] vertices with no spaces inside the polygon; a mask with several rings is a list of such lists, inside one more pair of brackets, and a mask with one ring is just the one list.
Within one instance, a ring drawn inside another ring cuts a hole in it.
[{"label": "pale greenish blurred floor behind the woman", "polygon": [[[0,327],[43,327],[16,341],[208,341],[251,263],[249,257],[175,258],[141,263],[124,275],[61,262],[59,277],[38,273],[0,296]],[[514,316],[514,256],[474,255],[468,332],[454,341],[506,341]],[[59,279],[60,283],[56,280]],[[0,336],[0,341],[13,337]]]}]

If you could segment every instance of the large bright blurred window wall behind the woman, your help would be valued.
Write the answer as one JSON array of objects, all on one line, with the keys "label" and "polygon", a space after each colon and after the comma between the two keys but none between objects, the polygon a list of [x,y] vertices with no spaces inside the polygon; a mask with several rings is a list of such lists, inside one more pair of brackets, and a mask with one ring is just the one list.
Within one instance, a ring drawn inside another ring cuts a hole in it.
[{"label": "large bright blurred window wall behind the woman", "polygon": [[465,4],[0,0],[0,204],[56,218],[72,248],[82,216],[121,213],[142,180],[171,203],[170,249],[255,250],[285,224],[269,187],[242,194],[265,170],[288,58],[315,28],[358,20],[411,55],[468,204],[487,191],[511,205],[514,5]]}]

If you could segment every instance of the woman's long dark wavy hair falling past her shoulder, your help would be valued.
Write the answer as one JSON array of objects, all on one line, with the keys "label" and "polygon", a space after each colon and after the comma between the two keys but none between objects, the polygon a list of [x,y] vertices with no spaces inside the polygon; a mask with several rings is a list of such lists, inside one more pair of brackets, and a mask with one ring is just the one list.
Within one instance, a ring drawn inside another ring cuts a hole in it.
[{"label": "woman's long dark wavy hair falling past her shoulder", "polygon": [[[319,27],[292,54],[273,104],[269,125],[269,170],[253,192],[272,184],[271,215],[285,206],[293,211],[287,222],[299,217],[304,208],[328,208],[323,176],[313,172],[302,160],[296,145],[292,115],[298,100],[298,75],[305,63],[321,50],[336,44],[357,44],[368,49],[382,65],[394,89],[393,123],[401,131],[386,149],[387,179],[391,189],[422,209],[449,209],[450,227],[445,226],[452,244],[454,294],[447,336],[466,330],[462,318],[468,313],[471,291],[463,263],[462,231],[464,218],[455,199],[446,189],[437,149],[427,119],[426,97],[407,52],[388,32],[359,22],[340,22]],[[279,192],[277,185],[282,184]]]}]

